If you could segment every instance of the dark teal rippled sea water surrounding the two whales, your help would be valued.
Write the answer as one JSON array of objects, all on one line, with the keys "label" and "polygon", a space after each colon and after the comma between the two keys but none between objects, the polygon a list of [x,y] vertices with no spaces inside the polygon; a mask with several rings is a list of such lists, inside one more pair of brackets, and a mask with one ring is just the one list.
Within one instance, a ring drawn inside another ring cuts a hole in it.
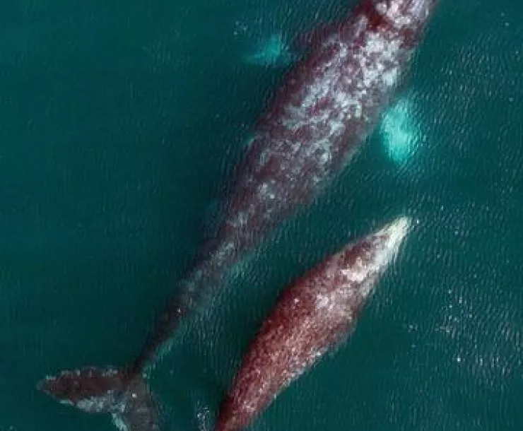
[{"label": "dark teal rippled sea water surrounding the two whales", "polygon": [[[1,431],[113,429],[35,382],[134,357],[284,71],[245,55],[344,8],[1,2]],[[375,134],[231,271],[153,372],[166,429],[213,423],[278,291],[399,213],[418,228],[358,331],[252,429],[523,429],[522,20],[517,0],[441,1],[400,95],[416,151],[394,163]]]}]

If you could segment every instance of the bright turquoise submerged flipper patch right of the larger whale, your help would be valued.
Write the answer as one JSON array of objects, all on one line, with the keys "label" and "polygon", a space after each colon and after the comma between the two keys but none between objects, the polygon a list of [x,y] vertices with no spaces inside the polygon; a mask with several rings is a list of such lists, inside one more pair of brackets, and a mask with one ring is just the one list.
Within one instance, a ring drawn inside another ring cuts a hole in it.
[{"label": "bright turquoise submerged flipper patch right of the larger whale", "polygon": [[421,136],[413,111],[408,99],[399,100],[385,113],[380,124],[385,149],[394,163],[406,163],[416,152]]}]

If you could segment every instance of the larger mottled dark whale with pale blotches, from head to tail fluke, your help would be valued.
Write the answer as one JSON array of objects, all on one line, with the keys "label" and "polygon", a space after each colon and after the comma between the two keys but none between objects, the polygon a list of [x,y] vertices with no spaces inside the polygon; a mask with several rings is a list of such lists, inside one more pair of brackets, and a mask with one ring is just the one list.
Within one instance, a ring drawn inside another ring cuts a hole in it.
[{"label": "larger mottled dark whale with pale blotches, from head to tail fluke", "polygon": [[144,368],[224,271],[348,163],[392,99],[435,3],[363,0],[345,19],[314,33],[254,128],[216,238],[204,245],[136,360],[122,369],[61,372],[39,388],[84,411],[111,413],[121,427],[158,429]]}]

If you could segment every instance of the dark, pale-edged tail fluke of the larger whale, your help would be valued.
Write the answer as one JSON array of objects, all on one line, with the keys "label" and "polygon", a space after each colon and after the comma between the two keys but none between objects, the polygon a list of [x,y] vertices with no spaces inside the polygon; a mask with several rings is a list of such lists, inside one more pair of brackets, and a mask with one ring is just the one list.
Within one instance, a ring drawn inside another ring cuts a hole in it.
[{"label": "dark, pale-edged tail fluke of the larger whale", "polygon": [[42,379],[37,388],[87,413],[109,413],[125,431],[158,431],[158,408],[146,381],[128,370],[87,367]]}]

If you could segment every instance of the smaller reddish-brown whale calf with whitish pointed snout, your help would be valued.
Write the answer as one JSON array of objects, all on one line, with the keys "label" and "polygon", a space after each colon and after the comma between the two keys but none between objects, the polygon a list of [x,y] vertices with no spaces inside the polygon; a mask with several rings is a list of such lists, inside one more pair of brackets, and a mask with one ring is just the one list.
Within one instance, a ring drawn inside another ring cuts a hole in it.
[{"label": "smaller reddish-brown whale calf with whitish pointed snout", "polygon": [[347,338],[409,225],[409,218],[397,218],[283,290],[242,360],[216,431],[252,423],[293,380]]}]

